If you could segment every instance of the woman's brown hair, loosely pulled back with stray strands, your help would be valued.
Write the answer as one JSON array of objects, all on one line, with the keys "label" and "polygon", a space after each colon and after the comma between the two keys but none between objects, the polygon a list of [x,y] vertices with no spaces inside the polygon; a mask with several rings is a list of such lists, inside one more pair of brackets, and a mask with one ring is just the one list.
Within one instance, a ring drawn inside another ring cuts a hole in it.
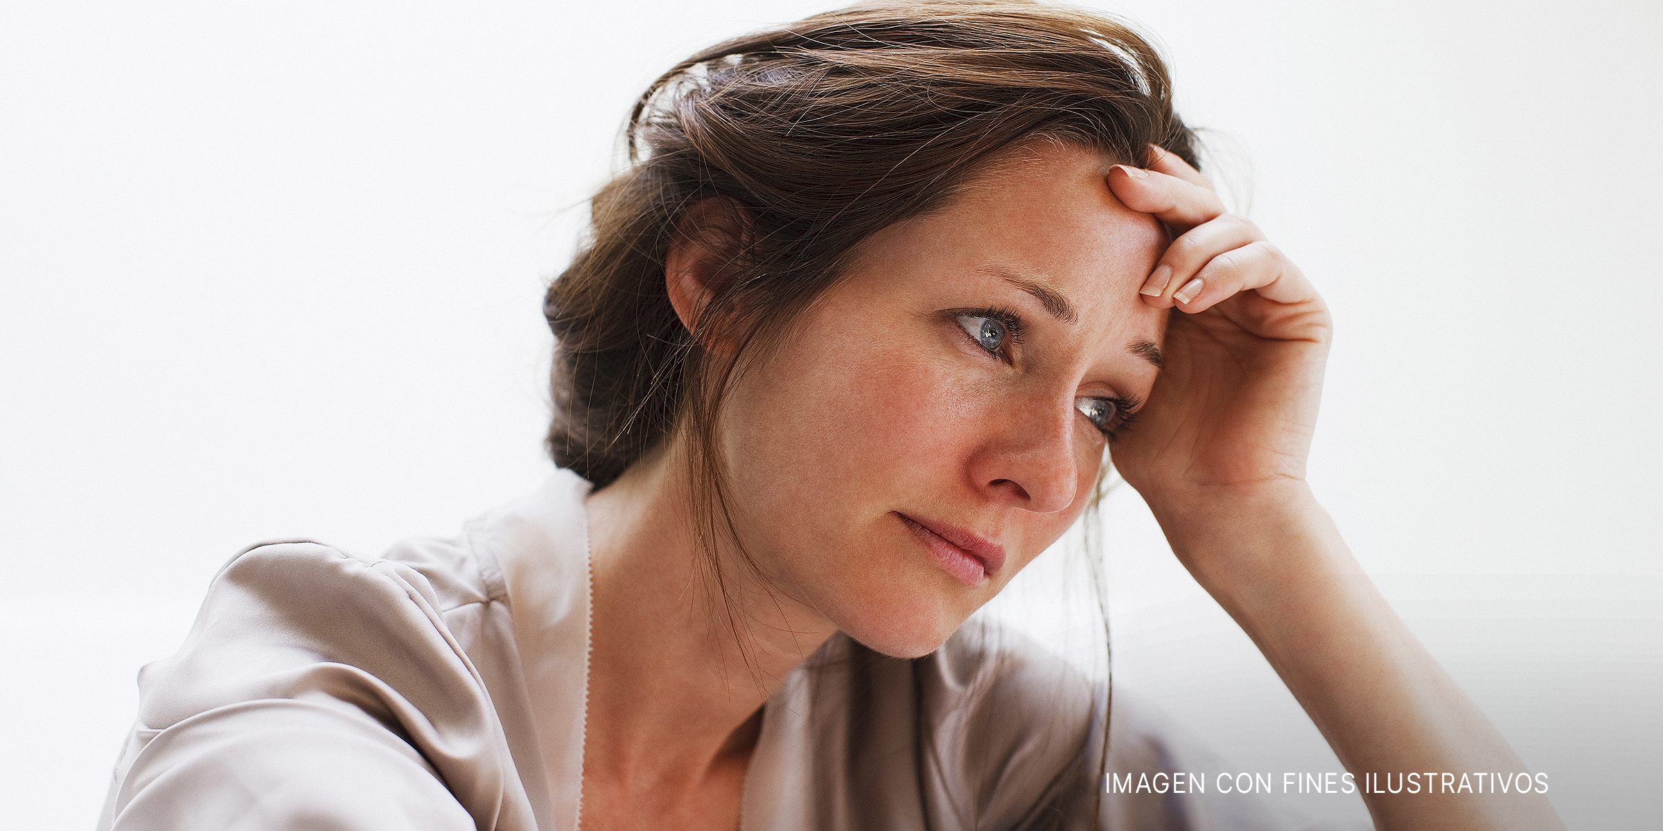
[{"label": "woman's brown hair, loosely pulled back with stray strands", "polygon": [[[1034,135],[1133,165],[1157,145],[1196,165],[1156,50],[1064,7],[860,3],[679,63],[635,103],[629,166],[595,194],[589,238],[544,302],[555,464],[600,489],[687,429],[720,504],[712,439],[738,364],[700,344],[767,354],[863,239],[945,206],[991,153]],[[665,258],[708,198],[745,231],[688,331]]]}]

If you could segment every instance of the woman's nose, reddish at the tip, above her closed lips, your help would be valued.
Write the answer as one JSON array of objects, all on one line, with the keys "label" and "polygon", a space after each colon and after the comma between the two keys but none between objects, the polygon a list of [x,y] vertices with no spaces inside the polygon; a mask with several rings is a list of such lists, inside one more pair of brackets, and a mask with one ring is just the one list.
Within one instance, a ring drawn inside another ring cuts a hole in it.
[{"label": "woman's nose, reddish at the tip, above her closed lips", "polygon": [[1008,412],[1003,429],[989,437],[971,465],[976,487],[1034,514],[1073,505],[1079,489],[1074,419],[1071,402]]}]

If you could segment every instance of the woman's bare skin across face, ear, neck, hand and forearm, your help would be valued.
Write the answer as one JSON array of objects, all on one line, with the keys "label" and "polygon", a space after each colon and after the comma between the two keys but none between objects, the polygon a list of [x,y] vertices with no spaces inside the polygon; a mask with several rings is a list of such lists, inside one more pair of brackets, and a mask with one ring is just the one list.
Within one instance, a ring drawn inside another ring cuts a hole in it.
[{"label": "woman's bare skin across face, ear, neck, hand and forearm", "polygon": [[[730,259],[723,223],[693,208],[670,251],[683,321]],[[956,319],[989,307],[1023,326],[999,356]],[[1305,487],[1329,336],[1299,269],[1159,151],[1144,170],[1021,145],[946,209],[875,234],[723,411],[750,558],[717,555],[743,638],[695,568],[680,439],[589,497],[584,826],[733,828],[780,678],[836,630],[928,653],[1079,517],[1106,439],[1074,402],[1101,396],[1147,401],[1114,444],[1121,475],[1349,770],[1523,770]],[[1003,563],[955,577],[903,515]],[[1365,799],[1379,828],[1562,828],[1542,798]]]}]

